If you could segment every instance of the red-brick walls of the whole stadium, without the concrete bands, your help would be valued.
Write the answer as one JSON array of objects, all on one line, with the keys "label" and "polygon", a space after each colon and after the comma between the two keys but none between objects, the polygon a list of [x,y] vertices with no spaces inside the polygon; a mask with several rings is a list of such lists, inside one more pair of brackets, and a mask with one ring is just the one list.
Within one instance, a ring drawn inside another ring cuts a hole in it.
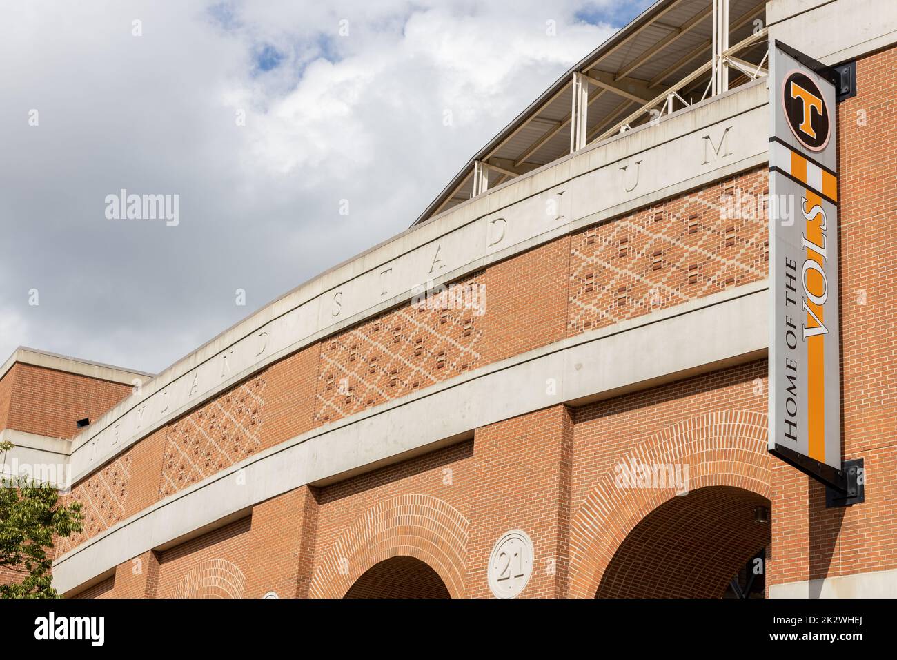
[{"label": "red-brick walls of the whole stadium, without the concrete bands", "polygon": [[[767,588],[897,568],[897,312],[887,304],[897,180],[881,148],[897,144],[894,66],[897,50],[861,59],[859,93],[839,106],[844,454],[866,460],[865,504],[826,509],[821,486],[767,453],[767,364],[754,359],[578,408],[553,405],[375,471],[297,488],[241,520],[147,550],[135,558],[139,572],[125,562],[82,595],[488,597],[490,551],[514,528],[535,546],[523,597],[719,597],[760,550]],[[455,283],[485,287],[482,311],[403,304],[284,357],[77,484],[88,520],[63,550],[310,429],[762,280],[767,188],[765,168],[741,172]],[[749,208],[733,213],[745,200]],[[58,402],[52,378],[22,366],[0,381],[7,427],[72,436],[73,417],[89,409],[93,418],[127,393],[86,396],[73,381],[65,387],[78,393]],[[19,383],[38,398],[17,400]],[[621,487],[621,466],[632,465],[687,468],[689,492]],[[771,523],[754,522],[758,506]]]}]

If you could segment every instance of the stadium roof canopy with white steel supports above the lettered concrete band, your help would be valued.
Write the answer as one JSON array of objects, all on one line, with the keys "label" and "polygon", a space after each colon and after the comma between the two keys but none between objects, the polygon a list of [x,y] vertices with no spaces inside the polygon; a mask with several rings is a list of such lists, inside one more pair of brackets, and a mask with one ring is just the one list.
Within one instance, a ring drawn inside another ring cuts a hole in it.
[{"label": "stadium roof canopy with white steel supports above the lettered concrete band", "polygon": [[[658,0],[483,146],[414,224],[584,145],[647,123],[658,111],[679,110],[765,75],[765,5],[765,0]],[[721,78],[714,80],[717,75]],[[582,95],[583,86],[588,96]]]}]

